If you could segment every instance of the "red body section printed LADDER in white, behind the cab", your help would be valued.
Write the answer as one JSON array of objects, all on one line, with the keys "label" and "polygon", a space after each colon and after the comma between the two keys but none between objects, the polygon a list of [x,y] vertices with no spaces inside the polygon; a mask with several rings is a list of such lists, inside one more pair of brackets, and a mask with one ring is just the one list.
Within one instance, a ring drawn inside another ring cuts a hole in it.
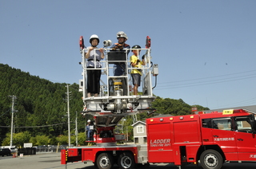
[{"label": "red body section printed LADDER in white, behind the cab", "polygon": [[[190,145],[194,151],[201,142],[198,116],[169,116],[146,120],[149,163],[175,163],[181,165],[180,147]],[[190,159],[193,152],[187,150]],[[191,160],[193,162],[194,160]]]}]

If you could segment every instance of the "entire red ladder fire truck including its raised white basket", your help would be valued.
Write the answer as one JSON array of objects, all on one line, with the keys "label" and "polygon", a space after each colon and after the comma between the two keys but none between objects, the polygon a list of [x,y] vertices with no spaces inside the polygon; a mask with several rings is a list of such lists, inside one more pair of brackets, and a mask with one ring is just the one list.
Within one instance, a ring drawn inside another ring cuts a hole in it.
[{"label": "entire red ladder fire truck including its raised white basket", "polygon": [[[120,33],[122,34],[122,33]],[[118,33],[119,36],[119,33]],[[126,36],[126,34],[125,34]],[[187,116],[158,116],[146,120],[146,144],[118,144],[122,135],[116,135],[114,128],[125,116],[140,112],[154,112],[150,104],[154,101],[151,76],[157,77],[158,65],[150,57],[150,37],[146,37],[142,71],[142,93],[133,95],[130,91],[131,74],[134,68],[128,66],[128,51],[107,49],[111,41],[104,41],[106,61],[101,61],[102,83],[98,96],[87,96],[87,69],[83,39],[80,39],[82,53],[82,80],[84,110],[82,114],[92,116],[90,129],[94,132],[87,142],[94,146],[70,147],[61,152],[61,163],[92,162],[99,169],[110,169],[118,164],[121,169],[132,169],[137,164],[174,163],[179,168],[186,163],[200,163],[204,169],[219,169],[226,161],[256,161],[255,114],[243,109],[193,114]],[[98,49],[94,49],[96,52]],[[139,56],[138,56],[139,57]],[[96,58],[94,58],[96,61]],[[122,65],[125,73],[114,76],[113,65]],[[93,69],[93,68],[90,68]],[[138,68],[137,68],[138,69]]]}]

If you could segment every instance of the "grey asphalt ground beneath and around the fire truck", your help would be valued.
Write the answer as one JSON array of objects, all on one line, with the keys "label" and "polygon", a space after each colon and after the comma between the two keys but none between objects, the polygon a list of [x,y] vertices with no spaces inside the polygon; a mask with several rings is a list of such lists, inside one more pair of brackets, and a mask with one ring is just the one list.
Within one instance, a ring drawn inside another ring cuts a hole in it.
[{"label": "grey asphalt ground beneath and around the fire truck", "polygon": [[[60,163],[60,153],[38,153],[37,155],[24,155],[23,157],[13,158],[12,156],[0,157],[1,169],[94,169],[93,163],[68,163],[62,165]],[[149,169],[177,169],[174,164],[151,164],[150,167],[142,167]],[[182,169],[196,169],[195,165],[187,165]],[[202,169],[202,167],[198,167]],[[224,163],[222,169],[255,169],[256,163]],[[118,166],[114,166],[118,169]]]}]

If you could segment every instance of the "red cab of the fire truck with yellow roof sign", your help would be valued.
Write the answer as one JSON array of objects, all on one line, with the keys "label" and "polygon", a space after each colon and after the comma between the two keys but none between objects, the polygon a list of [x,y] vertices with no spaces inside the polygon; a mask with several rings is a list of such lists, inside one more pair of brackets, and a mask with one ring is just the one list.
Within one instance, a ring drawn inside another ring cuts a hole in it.
[{"label": "red cab of the fire truck with yellow roof sign", "polygon": [[205,146],[216,145],[228,161],[256,160],[254,114],[240,109],[205,114],[201,118]]}]

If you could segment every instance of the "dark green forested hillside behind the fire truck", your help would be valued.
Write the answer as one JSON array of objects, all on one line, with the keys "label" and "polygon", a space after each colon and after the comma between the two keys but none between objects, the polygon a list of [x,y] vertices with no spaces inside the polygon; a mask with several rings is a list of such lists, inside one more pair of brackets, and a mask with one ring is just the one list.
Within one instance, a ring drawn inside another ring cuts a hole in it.
[{"label": "dark green forested hillside behind the fire truck", "polygon": [[[0,144],[10,133],[11,96],[16,96],[14,109],[14,132],[26,132],[31,137],[67,135],[67,84],[53,83],[31,76],[30,73],[9,65],[0,64]],[[82,93],[78,92],[78,84],[70,85],[70,121],[74,133],[74,120],[78,112],[78,132],[84,132],[85,120],[79,112],[82,110]],[[163,99],[157,96],[152,104],[156,113],[184,115],[191,113],[191,106],[182,99]],[[197,105],[198,110],[207,109]],[[155,113],[154,113],[155,115]],[[138,116],[139,120],[146,115]],[[127,120],[131,123],[131,120]],[[128,124],[129,125],[129,124]],[[26,140],[30,141],[30,140]]]}]

